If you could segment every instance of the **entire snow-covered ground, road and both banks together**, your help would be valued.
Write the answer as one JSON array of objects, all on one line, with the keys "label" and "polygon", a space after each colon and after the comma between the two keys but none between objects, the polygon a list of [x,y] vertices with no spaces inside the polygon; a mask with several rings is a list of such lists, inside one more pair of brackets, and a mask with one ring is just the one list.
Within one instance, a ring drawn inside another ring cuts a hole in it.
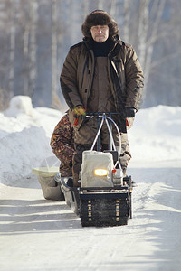
[{"label": "entire snow-covered ground, road and both banks together", "polygon": [[138,111],[129,130],[133,219],[82,228],[62,201],[46,201],[31,171],[55,165],[50,136],[62,117],[16,97],[0,112],[0,270],[181,270],[181,107]]}]

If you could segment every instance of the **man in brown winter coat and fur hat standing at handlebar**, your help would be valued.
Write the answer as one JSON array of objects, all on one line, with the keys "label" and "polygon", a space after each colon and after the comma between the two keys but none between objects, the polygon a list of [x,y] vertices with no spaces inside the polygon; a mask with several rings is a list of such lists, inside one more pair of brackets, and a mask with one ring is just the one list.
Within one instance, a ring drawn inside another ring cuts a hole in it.
[{"label": "man in brown winter coat and fur hat standing at handlebar", "polygon": [[[90,13],[81,26],[84,39],[71,47],[61,74],[63,96],[70,107],[76,153],[73,157],[74,185],[81,170],[81,157],[96,135],[96,120],[82,124],[86,112],[117,112],[122,141],[120,164],[123,173],[130,159],[126,117],[135,117],[143,89],[143,72],[131,45],[119,40],[118,24],[104,11]],[[79,118],[77,118],[79,117]],[[75,122],[75,118],[76,121]],[[116,145],[118,136],[113,131]],[[103,128],[102,150],[108,146]]]}]

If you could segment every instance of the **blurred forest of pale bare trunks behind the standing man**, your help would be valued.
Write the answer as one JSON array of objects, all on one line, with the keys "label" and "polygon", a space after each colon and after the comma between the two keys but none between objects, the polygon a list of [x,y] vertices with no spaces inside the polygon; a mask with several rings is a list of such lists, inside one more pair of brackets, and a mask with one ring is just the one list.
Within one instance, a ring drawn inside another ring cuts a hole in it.
[{"label": "blurred forest of pale bare trunks behind the standing man", "polygon": [[33,105],[65,107],[59,84],[69,47],[94,9],[119,23],[120,37],[138,53],[145,74],[142,107],[181,106],[181,2],[177,0],[1,0],[0,109],[14,95]]}]

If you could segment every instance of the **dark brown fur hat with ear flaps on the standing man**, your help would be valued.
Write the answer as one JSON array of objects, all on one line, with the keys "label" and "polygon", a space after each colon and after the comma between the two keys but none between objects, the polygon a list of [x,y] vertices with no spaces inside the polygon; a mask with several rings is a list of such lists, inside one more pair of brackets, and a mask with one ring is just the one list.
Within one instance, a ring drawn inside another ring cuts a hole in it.
[{"label": "dark brown fur hat with ear flaps on the standing man", "polygon": [[108,25],[110,38],[119,33],[118,24],[103,10],[95,10],[87,15],[85,22],[81,25],[81,32],[85,37],[91,37],[90,28],[94,25]]}]

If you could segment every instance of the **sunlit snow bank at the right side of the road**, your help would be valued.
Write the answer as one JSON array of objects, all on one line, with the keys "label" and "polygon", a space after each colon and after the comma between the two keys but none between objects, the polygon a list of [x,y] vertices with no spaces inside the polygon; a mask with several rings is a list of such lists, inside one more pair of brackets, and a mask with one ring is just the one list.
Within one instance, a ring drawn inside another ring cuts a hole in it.
[{"label": "sunlit snow bank at the right side of the road", "polygon": [[129,141],[136,160],[181,160],[181,107],[139,110],[129,130]]}]

